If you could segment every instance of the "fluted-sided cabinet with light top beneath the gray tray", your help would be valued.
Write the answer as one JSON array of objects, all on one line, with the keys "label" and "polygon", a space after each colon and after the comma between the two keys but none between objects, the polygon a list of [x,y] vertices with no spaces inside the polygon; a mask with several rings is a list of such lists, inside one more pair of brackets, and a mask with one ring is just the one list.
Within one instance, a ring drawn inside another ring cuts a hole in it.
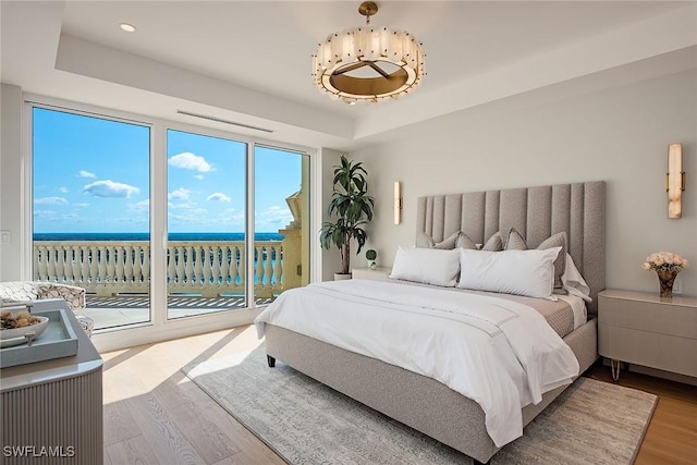
[{"label": "fluted-sided cabinet with light top beneath the gray tray", "polygon": [[[65,305],[57,302],[37,301],[34,309]],[[3,464],[103,463],[102,360],[72,310],[66,314],[76,355],[0,369]]]}]

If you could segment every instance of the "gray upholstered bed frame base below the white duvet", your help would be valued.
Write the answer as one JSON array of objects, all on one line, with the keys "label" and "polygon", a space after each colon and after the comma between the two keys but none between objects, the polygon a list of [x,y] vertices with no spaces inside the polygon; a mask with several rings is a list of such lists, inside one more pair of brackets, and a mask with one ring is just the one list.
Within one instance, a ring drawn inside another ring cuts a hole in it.
[{"label": "gray upholstered bed frame base below the white duvet", "polygon": [[[585,371],[598,358],[597,320],[564,338]],[[499,450],[479,404],[445,384],[313,338],[266,325],[266,351],[298,371],[482,463]],[[527,425],[565,387],[523,408]]]}]

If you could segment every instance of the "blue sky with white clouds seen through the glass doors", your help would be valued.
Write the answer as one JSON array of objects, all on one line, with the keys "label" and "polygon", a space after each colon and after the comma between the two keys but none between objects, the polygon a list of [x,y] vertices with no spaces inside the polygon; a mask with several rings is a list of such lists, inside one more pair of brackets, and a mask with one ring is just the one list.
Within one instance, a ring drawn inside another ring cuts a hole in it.
[{"label": "blue sky with white clouds seen through the glass doors", "polygon": [[[149,231],[150,169],[167,170],[170,232],[243,232],[244,143],[168,131],[167,167],[150,166],[150,129],[34,109],[34,232]],[[257,232],[292,220],[302,156],[257,147]]]}]

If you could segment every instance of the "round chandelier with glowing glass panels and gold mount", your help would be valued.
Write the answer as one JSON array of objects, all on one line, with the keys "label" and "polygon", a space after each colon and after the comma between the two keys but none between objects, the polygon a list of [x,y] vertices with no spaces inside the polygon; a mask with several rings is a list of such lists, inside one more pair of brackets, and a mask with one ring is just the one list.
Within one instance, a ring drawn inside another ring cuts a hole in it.
[{"label": "round chandelier with glowing glass panels and gold mount", "polygon": [[360,3],[365,27],[334,33],[313,56],[313,81],[331,98],[354,105],[398,99],[424,76],[424,49],[414,36],[370,26],[375,2]]}]

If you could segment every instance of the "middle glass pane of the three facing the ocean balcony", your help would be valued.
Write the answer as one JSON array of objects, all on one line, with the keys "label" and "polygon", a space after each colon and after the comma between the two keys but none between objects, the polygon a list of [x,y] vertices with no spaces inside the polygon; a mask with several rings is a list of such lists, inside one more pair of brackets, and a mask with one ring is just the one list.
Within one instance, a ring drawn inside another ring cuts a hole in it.
[{"label": "middle glass pane of the three facing the ocean balcony", "polygon": [[244,308],[247,144],[167,132],[168,318]]}]

